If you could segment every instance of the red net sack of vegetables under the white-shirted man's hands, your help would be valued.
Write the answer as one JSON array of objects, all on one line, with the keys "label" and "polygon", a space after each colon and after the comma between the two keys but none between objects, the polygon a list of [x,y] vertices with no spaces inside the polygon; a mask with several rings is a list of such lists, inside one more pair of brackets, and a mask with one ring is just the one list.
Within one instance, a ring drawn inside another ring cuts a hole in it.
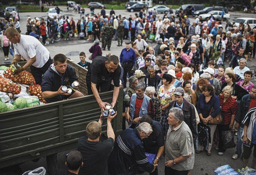
[{"label": "red net sack of vegetables under the white-shirted man's hands", "polygon": [[5,78],[11,79],[17,83],[23,83],[23,84],[30,85],[36,81],[34,76],[26,70],[14,74],[14,72],[12,72],[11,68],[8,68],[3,74],[4,74]]}]

